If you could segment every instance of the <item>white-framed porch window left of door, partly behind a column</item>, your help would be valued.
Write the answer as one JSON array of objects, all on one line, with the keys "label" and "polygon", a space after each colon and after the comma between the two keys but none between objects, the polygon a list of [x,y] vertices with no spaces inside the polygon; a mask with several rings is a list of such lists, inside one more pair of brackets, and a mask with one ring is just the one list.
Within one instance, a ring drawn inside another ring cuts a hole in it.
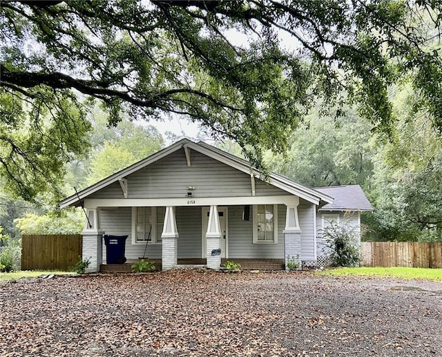
[{"label": "white-framed porch window left of door, partly behind a column", "polygon": [[166,207],[133,207],[133,242],[160,244],[165,213]]}]

